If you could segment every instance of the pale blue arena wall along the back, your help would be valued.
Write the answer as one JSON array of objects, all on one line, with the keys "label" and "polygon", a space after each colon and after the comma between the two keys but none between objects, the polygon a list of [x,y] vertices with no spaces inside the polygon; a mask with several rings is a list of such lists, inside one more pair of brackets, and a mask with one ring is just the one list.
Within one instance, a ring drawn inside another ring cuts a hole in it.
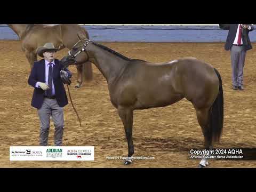
[{"label": "pale blue arena wall along the back", "polygon": [[[96,42],[225,42],[227,30],[218,24],[81,24]],[[256,42],[256,30],[250,34]],[[0,25],[0,39],[18,36]]]}]

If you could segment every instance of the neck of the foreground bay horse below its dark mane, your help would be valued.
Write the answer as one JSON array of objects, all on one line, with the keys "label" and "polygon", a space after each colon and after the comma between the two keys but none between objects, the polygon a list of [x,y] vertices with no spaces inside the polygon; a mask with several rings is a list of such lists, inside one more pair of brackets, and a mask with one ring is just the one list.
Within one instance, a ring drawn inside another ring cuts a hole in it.
[{"label": "neck of the foreground bay horse below its dark mane", "polygon": [[97,45],[91,44],[89,47],[89,51],[94,56],[93,62],[95,66],[101,71],[102,75],[107,79],[107,82],[111,83],[111,81],[115,81],[115,79],[122,74],[127,61],[113,53],[103,50]]}]

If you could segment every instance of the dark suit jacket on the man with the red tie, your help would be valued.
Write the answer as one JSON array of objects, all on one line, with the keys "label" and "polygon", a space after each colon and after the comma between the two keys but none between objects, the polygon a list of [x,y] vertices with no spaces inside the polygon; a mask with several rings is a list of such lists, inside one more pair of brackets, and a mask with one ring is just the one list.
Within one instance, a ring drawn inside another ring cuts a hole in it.
[{"label": "dark suit jacket on the man with the red tie", "polygon": [[[219,24],[221,29],[229,30],[227,42],[225,45],[225,49],[227,51],[231,49],[231,47],[235,41],[238,25],[239,24]],[[253,26],[251,26],[251,27],[252,27],[251,30],[244,29],[244,28],[242,29],[242,40],[243,40],[243,44],[245,46],[246,51],[252,49],[251,41],[249,38],[249,31],[252,31],[254,28],[253,28]]]}]

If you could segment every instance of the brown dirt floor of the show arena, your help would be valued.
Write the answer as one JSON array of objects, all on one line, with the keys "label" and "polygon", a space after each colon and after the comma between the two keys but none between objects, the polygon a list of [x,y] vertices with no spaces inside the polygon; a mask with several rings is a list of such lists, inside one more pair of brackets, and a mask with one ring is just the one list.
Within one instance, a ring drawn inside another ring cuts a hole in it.
[{"label": "brown dirt floor of the show arena", "polygon": [[[196,57],[217,68],[222,76],[225,97],[225,121],[222,139],[214,147],[256,147],[256,52],[247,53],[244,71],[245,91],[231,89],[230,53],[223,43],[102,43],[134,59],[165,62],[182,57]],[[256,44],[253,44],[256,47]],[[121,119],[111,105],[107,82],[93,65],[94,81],[75,89],[77,71],[70,86],[74,105],[82,118],[79,127],[75,112],[65,107],[64,146],[94,146],[93,162],[10,162],[10,146],[37,146],[39,119],[30,106],[33,87],[27,83],[30,67],[21,51],[20,41],[0,41],[0,167],[197,167],[189,159],[191,148],[202,148],[204,138],[193,106],[186,99],[165,108],[137,110],[134,113],[134,156],[124,166],[108,156],[126,156],[127,142]],[[67,54],[57,54],[61,59]],[[161,93],[159,93],[161,94]],[[51,123],[49,145],[53,145]],[[253,161],[211,161],[209,167],[256,167]]]}]

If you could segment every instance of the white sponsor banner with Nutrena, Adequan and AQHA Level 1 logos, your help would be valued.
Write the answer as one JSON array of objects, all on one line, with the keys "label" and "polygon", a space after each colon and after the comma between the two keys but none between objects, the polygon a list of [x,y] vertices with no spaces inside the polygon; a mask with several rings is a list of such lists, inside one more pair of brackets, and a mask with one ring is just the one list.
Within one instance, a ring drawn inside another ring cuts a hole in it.
[{"label": "white sponsor banner with Nutrena, Adequan and AQHA Level 1 logos", "polygon": [[10,146],[10,161],[94,161],[94,147]]}]

